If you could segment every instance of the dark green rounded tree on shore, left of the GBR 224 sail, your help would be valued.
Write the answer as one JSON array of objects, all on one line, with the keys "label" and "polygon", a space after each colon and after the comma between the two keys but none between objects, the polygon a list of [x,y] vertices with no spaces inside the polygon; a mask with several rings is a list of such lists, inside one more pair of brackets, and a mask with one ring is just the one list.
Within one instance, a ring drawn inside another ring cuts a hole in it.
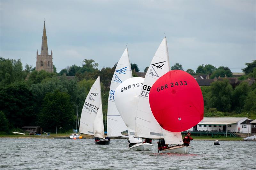
[{"label": "dark green rounded tree on shore, left of the GBR 224 sail", "polygon": [[75,122],[75,113],[68,93],[55,90],[44,97],[39,123],[46,130],[54,130],[57,126],[61,131],[66,131]]}]

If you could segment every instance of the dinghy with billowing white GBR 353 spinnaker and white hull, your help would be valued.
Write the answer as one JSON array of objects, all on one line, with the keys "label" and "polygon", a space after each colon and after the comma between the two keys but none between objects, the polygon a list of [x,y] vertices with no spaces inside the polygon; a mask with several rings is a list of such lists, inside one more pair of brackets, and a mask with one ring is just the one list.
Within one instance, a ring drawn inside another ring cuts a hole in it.
[{"label": "dinghy with billowing white GBR 353 spinnaker and white hull", "polygon": [[116,108],[127,126],[130,150],[152,149],[152,144],[142,143],[141,138],[134,137],[136,110],[143,81],[144,78],[141,77],[129,78],[120,84],[115,92]]}]

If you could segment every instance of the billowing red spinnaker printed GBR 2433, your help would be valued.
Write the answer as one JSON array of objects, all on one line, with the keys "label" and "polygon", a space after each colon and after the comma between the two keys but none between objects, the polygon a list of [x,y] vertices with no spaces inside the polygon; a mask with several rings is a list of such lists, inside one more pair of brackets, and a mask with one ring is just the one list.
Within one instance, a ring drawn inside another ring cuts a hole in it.
[{"label": "billowing red spinnaker printed GBR 2433", "polygon": [[156,80],[149,104],[156,121],[171,132],[186,131],[204,118],[201,89],[185,71],[171,70]]}]

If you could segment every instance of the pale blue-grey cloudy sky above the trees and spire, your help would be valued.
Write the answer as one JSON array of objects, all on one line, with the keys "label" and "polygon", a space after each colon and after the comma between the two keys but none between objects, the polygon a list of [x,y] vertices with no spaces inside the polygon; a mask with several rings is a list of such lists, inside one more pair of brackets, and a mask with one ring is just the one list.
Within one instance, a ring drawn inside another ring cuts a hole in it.
[{"label": "pale blue-grey cloudy sky above the trees and spire", "polygon": [[0,56],[35,67],[44,20],[57,72],[84,59],[113,67],[126,44],[143,72],[165,34],[170,66],[185,71],[212,64],[242,72],[256,60],[255,0],[0,0]]}]

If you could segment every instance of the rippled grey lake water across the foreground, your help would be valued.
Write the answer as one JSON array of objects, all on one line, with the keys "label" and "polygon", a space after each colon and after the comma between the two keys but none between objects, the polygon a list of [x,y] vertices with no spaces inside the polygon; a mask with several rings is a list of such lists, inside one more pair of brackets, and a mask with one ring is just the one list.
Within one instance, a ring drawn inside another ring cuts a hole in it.
[{"label": "rippled grey lake water across the foreground", "polygon": [[0,138],[0,169],[256,169],[256,142],[191,141],[188,154],[130,151],[126,139]]}]

